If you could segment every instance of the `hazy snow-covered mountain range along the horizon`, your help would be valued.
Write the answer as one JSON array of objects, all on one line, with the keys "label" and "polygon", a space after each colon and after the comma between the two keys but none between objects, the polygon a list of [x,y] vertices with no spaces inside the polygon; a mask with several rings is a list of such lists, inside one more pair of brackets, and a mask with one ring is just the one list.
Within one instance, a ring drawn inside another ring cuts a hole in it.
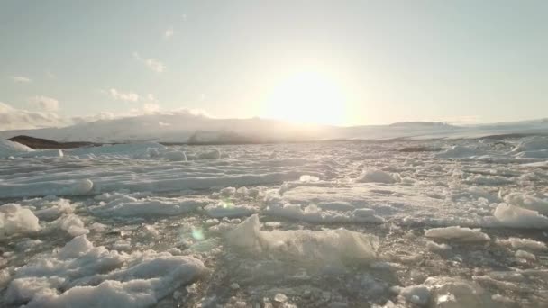
[{"label": "hazy snow-covered mountain range along the horizon", "polygon": [[61,128],[0,131],[1,139],[27,135],[57,141],[269,142],[333,139],[477,138],[498,134],[548,133],[548,121],[454,126],[443,122],[336,127],[269,119],[215,119],[193,113],[154,113],[81,122]]}]

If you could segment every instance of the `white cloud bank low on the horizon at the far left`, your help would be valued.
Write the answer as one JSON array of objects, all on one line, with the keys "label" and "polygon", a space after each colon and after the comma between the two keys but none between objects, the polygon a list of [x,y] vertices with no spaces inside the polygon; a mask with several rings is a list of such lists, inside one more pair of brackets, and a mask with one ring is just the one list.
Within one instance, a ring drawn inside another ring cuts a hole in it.
[{"label": "white cloud bank low on the horizon at the far left", "polygon": [[68,124],[70,122],[60,118],[57,113],[30,112],[0,102],[0,131],[59,127]]}]

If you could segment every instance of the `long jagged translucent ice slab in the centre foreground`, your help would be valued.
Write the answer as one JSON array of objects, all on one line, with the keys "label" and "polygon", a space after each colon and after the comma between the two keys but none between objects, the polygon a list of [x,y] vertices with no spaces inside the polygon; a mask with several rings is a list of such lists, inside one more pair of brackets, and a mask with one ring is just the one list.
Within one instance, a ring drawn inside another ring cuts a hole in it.
[{"label": "long jagged translucent ice slab in the centre foreground", "polygon": [[238,249],[266,258],[290,259],[306,266],[368,264],[377,258],[379,239],[345,229],[326,231],[260,231],[257,214],[251,215],[226,236]]}]

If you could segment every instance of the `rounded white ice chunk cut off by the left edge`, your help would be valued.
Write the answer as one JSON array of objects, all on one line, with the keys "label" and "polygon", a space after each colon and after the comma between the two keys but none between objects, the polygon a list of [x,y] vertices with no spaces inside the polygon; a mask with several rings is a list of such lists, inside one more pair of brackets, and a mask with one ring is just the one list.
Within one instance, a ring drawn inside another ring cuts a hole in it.
[{"label": "rounded white ice chunk cut off by the left edge", "polygon": [[0,206],[0,238],[19,232],[39,231],[38,218],[19,204]]}]

